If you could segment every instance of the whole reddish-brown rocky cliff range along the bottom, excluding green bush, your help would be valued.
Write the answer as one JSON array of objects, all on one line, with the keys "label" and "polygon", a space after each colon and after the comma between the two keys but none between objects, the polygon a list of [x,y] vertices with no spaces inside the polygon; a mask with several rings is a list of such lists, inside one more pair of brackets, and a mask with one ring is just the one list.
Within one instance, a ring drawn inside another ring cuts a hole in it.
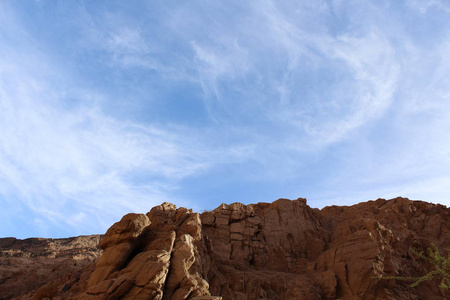
[{"label": "whole reddish-brown rocky cliff range along the bottom, excluding green bush", "polygon": [[450,248],[450,209],[406,198],[163,203],[102,237],[0,239],[0,299],[450,299],[439,281],[379,279],[427,274],[415,251],[432,244]]}]

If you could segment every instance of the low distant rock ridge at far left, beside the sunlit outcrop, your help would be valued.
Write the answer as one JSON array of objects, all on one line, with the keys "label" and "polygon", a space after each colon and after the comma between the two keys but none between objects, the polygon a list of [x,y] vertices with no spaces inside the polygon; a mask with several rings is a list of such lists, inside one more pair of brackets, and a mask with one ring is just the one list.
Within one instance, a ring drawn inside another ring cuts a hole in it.
[{"label": "low distant rock ridge at far left, beside the sunlit outcrop", "polygon": [[[82,271],[102,254],[101,235],[66,239],[0,239],[0,299],[31,298],[46,283],[48,289],[72,288]],[[42,290],[44,290],[43,288]],[[28,294],[28,295],[27,295]]]}]

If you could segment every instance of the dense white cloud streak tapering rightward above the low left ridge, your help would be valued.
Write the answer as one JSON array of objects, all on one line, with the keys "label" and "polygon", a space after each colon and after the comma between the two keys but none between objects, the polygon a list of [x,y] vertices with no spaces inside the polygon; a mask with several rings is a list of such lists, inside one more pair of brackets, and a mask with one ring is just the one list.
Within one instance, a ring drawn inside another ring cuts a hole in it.
[{"label": "dense white cloud streak tapering rightward above the low left ridge", "polygon": [[76,222],[69,202],[114,217],[148,209],[166,200],[170,182],[207,167],[181,132],[119,122],[95,107],[52,107],[54,91],[19,77],[1,89],[0,192],[55,222]]}]

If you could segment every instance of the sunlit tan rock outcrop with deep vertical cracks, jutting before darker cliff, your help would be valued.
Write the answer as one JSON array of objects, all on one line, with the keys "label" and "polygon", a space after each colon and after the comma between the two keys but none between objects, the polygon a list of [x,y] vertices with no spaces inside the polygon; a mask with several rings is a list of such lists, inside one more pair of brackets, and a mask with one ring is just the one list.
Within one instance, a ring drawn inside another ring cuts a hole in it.
[{"label": "sunlit tan rock outcrop with deep vertical cracks, jutting before darker cliff", "polygon": [[210,296],[201,276],[199,214],[163,203],[129,214],[105,234],[105,252],[77,299],[192,299]]}]

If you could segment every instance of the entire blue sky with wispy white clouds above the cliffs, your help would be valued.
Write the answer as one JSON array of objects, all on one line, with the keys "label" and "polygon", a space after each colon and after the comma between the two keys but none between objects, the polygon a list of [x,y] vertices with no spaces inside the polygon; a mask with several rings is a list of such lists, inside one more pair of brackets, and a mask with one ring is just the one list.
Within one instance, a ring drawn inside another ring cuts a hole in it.
[{"label": "entire blue sky with wispy white clouds above the cliffs", "polygon": [[450,206],[450,1],[0,1],[0,237],[171,202]]}]

